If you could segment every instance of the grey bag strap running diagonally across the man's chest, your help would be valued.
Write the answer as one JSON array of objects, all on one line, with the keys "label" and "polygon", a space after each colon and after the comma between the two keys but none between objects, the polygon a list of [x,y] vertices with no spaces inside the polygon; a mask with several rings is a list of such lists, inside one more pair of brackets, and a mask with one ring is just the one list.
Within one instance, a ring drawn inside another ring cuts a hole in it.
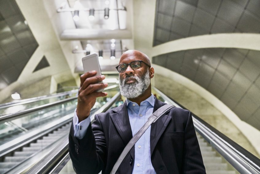
[{"label": "grey bag strap running diagonally across the man's chest", "polygon": [[115,174],[118,167],[126,157],[127,153],[130,151],[130,149],[134,146],[134,144],[139,140],[139,138],[146,132],[146,129],[152,124],[155,123],[165,112],[169,111],[171,108],[175,106],[171,104],[165,104],[159,109],[157,109],[153,114],[148,118],[147,122],[143,125],[143,127],[134,135],[134,137],[128,142],[126,147],[124,148],[123,152],[119,156],[118,160],[116,161],[112,171],[110,174]]}]

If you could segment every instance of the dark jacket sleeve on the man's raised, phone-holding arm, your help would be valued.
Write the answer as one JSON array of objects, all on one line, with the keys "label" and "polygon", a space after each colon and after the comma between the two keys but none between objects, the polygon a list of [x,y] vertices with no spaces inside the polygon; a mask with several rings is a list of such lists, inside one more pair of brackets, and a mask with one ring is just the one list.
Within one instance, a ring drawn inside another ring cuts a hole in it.
[{"label": "dark jacket sleeve on the man's raised, phone-holding arm", "polygon": [[106,140],[98,115],[95,115],[92,129],[89,126],[82,139],[74,136],[73,124],[70,129],[69,154],[73,168],[78,174],[98,174],[106,164]]}]

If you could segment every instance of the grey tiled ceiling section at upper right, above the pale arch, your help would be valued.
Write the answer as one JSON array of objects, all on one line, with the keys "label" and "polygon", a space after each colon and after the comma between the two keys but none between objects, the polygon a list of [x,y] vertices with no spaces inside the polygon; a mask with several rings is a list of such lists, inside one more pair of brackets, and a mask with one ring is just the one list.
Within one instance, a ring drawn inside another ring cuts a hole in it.
[{"label": "grey tiled ceiling section at upper right, above the pale arch", "polygon": [[157,0],[153,46],[216,33],[259,33],[259,0]]}]

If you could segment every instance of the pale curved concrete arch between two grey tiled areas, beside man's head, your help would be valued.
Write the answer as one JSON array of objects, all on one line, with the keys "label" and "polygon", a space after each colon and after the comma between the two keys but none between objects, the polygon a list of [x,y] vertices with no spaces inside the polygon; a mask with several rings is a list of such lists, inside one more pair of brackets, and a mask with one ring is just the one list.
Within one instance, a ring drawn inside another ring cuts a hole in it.
[{"label": "pale curved concrete arch between two grey tiled areas, beside man's head", "polygon": [[224,33],[182,38],[153,47],[149,55],[153,57],[199,48],[241,48],[260,51],[260,34]]}]

